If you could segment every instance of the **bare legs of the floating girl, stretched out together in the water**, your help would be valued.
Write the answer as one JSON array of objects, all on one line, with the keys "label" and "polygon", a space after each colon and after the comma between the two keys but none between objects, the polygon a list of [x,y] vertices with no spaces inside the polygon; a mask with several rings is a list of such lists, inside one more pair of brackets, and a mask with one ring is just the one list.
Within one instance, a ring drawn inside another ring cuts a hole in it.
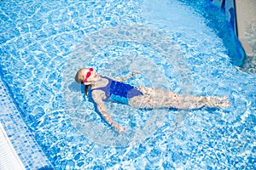
[{"label": "bare legs of the floating girl, stretched out together in the water", "polygon": [[177,108],[183,110],[201,107],[225,108],[230,105],[227,97],[202,97],[195,95],[181,95],[164,91],[159,88],[138,88],[143,95],[132,98],[129,105],[137,108]]}]

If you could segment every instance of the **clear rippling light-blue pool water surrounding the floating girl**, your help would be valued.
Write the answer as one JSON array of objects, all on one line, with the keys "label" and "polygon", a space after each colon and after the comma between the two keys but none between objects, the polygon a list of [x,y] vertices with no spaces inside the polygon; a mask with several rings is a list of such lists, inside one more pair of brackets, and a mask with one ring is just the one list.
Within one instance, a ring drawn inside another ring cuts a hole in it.
[{"label": "clear rippling light-blue pool water surrounding the floating girl", "polygon": [[[212,3],[3,1],[0,14],[1,77],[50,161],[42,166],[255,167],[256,76],[236,70],[241,47],[228,41],[236,38]],[[227,95],[232,105],[224,111],[144,111],[108,103],[113,119],[128,129],[114,133],[73,81],[81,66],[112,77],[138,70],[133,85]],[[26,168],[33,169],[32,162]]]}]

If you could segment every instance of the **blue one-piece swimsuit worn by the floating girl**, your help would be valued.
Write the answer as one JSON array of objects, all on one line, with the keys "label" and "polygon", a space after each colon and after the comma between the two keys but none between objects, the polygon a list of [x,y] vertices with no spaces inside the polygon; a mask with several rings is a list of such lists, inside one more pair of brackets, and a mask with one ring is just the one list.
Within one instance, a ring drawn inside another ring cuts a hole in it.
[{"label": "blue one-piece swimsuit worn by the floating girl", "polygon": [[113,79],[110,79],[108,77],[103,77],[108,79],[108,84],[105,87],[102,88],[94,88],[91,89],[93,90],[102,90],[106,94],[106,99],[107,100],[113,100],[122,104],[128,104],[129,100],[135,96],[138,95],[143,95],[141,91],[139,91],[137,88],[125,84],[123,82],[116,82]]}]

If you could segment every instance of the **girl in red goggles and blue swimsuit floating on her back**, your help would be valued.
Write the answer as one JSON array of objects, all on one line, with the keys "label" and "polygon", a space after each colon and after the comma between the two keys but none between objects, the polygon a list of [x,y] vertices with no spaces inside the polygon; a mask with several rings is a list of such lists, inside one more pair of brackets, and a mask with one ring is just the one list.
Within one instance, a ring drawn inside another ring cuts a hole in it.
[{"label": "girl in red goggles and blue swimsuit floating on her back", "polygon": [[123,81],[134,77],[137,73],[137,71],[133,71],[127,77],[113,80],[108,77],[98,76],[92,68],[83,68],[77,72],[75,81],[85,85],[85,95],[87,95],[87,90],[90,86],[91,96],[96,103],[97,110],[101,113],[104,120],[118,132],[124,132],[125,127],[113,122],[111,116],[108,115],[103,101],[112,100],[139,109],[177,108],[191,110],[201,107],[219,107],[224,109],[230,105],[228,97],[225,96],[203,97],[183,95],[159,88],[137,88],[123,83]]}]

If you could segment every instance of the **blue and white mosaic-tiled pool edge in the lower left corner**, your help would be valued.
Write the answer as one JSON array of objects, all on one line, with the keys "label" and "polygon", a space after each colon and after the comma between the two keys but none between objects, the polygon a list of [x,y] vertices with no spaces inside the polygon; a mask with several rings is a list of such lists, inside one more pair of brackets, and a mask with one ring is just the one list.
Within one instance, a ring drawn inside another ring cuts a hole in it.
[{"label": "blue and white mosaic-tiled pool edge in the lower left corner", "polygon": [[[16,157],[16,160],[15,157],[13,157],[14,159],[11,161],[14,163],[13,165],[18,166],[22,162],[20,169],[23,169],[22,167],[25,169],[54,169],[34,138],[34,134],[23,121],[20,111],[17,109],[15,102],[9,95],[9,89],[5,86],[1,76],[0,123],[3,126],[2,129],[5,131],[2,133],[5,137],[3,138],[3,142],[9,145],[10,150],[13,150],[13,156],[19,157],[19,159]],[[1,145],[1,150],[3,150],[3,152],[4,150],[7,150],[7,148],[2,147],[3,145]],[[7,153],[4,154],[0,152],[0,156],[3,156],[1,157],[0,165],[9,163],[9,161],[6,162],[6,158],[8,158]]]}]

